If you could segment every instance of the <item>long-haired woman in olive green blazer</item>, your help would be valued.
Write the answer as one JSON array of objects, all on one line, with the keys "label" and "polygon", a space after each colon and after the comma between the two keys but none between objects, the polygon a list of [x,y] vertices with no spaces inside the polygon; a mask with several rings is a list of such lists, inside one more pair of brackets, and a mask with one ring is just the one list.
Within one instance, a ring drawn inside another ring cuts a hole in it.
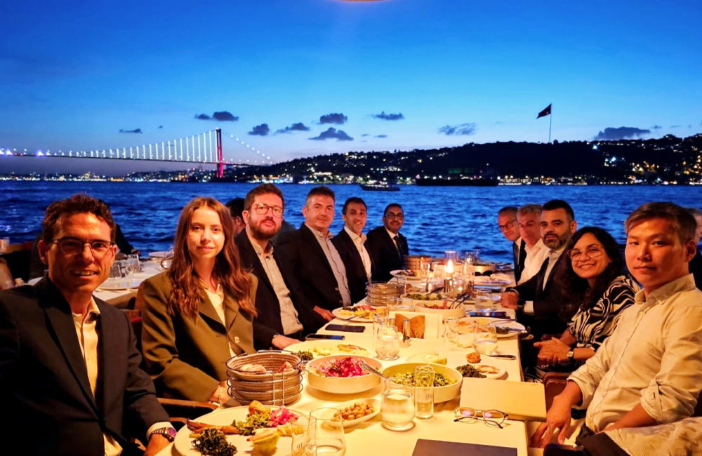
[{"label": "long-haired woman in olive green blazer", "polygon": [[256,277],[241,269],[229,210],[183,208],[171,268],[144,283],[142,349],[159,395],[223,403],[227,360],[253,353]]}]

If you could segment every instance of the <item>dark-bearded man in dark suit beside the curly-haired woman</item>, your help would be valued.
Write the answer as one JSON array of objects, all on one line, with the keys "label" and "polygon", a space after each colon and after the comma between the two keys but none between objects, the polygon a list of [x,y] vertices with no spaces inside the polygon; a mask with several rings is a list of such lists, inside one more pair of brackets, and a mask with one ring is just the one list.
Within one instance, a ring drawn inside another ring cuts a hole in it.
[{"label": "dark-bearded man in dark suit beside the curly-haired woman", "polygon": [[563,304],[562,288],[557,282],[559,272],[566,267],[566,243],[578,229],[571,206],[554,199],[543,205],[541,238],[549,248],[548,257],[536,276],[502,294],[502,305],[517,310],[517,320],[531,327],[538,342],[546,334],[560,334],[566,323],[559,317]]}]

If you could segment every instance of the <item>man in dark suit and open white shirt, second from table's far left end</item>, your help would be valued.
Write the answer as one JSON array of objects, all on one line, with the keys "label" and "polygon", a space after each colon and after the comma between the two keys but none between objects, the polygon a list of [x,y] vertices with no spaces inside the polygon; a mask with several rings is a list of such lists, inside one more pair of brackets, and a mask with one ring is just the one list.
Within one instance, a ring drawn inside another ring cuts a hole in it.
[{"label": "man in dark suit and open white shirt, second from table's far left end", "polygon": [[371,281],[371,256],[363,245],[366,235],[363,229],[368,218],[366,202],[351,197],[341,209],[344,219],[343,229],[331,240],[339,251],[346,267],[351,302],[359,302],[366,297],[366,283]]}]

